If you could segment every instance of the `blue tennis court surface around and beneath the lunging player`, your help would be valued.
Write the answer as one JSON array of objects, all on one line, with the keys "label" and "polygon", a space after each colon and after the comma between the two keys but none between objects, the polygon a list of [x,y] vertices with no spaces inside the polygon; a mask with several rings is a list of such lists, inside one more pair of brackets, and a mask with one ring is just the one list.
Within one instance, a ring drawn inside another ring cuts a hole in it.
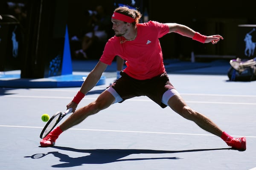
[{"label": "blue tennis court surface around and beneath the lunging player", "polygon": [[[92,63],[74,62],[74,71],[86,76]],[[166,65],[170,81],[193,109],[230,135],[246,136],[247,150],[231,149],[144,96],[88,117],[62,133],[54,147],[39,147],[45,125],[41,115],[65,111],[79,87],[5,87],[0,88],[1,169],[255,170],[256,82],[230,82],[228,64],[194,63],[181,69],[186,64]],[[104,73],[106,83],[93,88],[78,107],[95,100],[113,82],[114,68],[115,63]]]}]

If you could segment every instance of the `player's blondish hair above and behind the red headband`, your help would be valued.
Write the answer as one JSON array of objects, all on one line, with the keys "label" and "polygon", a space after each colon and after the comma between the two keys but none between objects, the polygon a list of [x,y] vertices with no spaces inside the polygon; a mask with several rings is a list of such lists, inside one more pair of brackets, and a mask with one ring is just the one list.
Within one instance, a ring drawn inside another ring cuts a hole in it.
[{"label": "player's blondish hair above and behind the red headband", "polygon": [[142,14],[140,11],[128,8],[127,6],[121,6],[114,10],[114,12],[118,12],[120,14],[127,15],[129,17],[132,17],[135,19],[135,21],[132,23],[134,26],[139,23],[140,18],[142,17]]}]

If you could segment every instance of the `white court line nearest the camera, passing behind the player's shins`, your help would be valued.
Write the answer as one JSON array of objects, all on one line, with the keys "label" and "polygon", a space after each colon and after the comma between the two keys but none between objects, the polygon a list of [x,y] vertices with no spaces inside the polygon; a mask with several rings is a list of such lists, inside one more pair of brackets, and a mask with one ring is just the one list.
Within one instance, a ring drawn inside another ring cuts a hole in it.
[{"label": "white court line nearest the camera, passing behind the player's shins", "polygon": [[[0,127],[21,127],[21,128],[43,128],[36,126],[12,126],[12,125],[0,125]],[[77,129],[70,128],[70,130],[86,130],[86,131],[102,131],[102,132],[122,132],[122,133],[152,133],[152,134],[169,134],[169,135],[195,135],[195,136],[215,136],[213,134],[199,134],[199,133],[170,133],[170,132],[148,132],[148,131],[131,131],[131,130],[104,130],[104,129]],[[239,137],[237,135],[232,135]],[[247,138],[256,138],[256,136],[245,136]]]}]

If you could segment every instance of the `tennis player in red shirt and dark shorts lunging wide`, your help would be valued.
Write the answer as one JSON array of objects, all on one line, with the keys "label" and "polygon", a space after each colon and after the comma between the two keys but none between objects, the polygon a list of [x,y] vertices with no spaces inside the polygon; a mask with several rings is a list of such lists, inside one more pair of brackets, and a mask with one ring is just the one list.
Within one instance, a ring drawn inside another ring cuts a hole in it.
[{"label": "tennis player in red shirt and dark shorts lunging wide", "polygon": [[115,56],[126,61],[127,67],[121,72],[122,77],[103,91],[94,102],[79,108],[70,115],[61,125],[41,140],[41,146],[54,145],[63,131],[114,103],[121,103],[135,96],[148,96],[161,108],[169,106],[180,116],[195,122],[209,133],[219,136],[227,145],[238,150],[246,150],[245,137],[233,138],[215,125],[207,116],[193,110],[184,102],[178,91],[169,82],[159,42],[159,38],[168,33],[177,33],[202,43],[211,42],[212,44],[216,44],[220,39],[223,40],[223,37],[221,35],[205,36],[177,23],[159,23],[156,21],[139,23],[141,16],[139,11],[127,7],[119,7],[114,10],[111,22],[115,36],[108,40],[99,62],[88,74],[80,91],[67,105],[67,108],[76,110],[81,99],[96,85]]}]

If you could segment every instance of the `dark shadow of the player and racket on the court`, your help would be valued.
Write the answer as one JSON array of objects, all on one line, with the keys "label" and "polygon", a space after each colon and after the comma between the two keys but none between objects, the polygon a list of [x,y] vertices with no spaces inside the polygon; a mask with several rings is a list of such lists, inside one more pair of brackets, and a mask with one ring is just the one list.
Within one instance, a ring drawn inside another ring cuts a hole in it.
[{"label": "dark shadow of the player and racket on the court", "polygon": [[155,158],[131,158],[131,159],[122,159],[125,156],[131,154],[161,154],[161,153],[183,153],[183,152],[199,152],[207,150],[228,150],[230,148],[218,148],[218,149],[196,149],[196,150],[177,150],[177,151],[168,151],[168,150],[140,150],[140,149],[93,149],[93,150],[81,150],[70,147],[58,147],[53,146],[59,150],[68,150],[79,153],[89,153],[90,155],[81,156],[77,158],[72,158],[66,154],[60,152],[49,152],[47,154],[41,154],[41,156],[36,158],[36,155],[31,156],[33,159],[38,159],[48,154],[53,154],[55,157],[58,157],[62,164],[55,164],[52,167],[75,167],[81,166],[82,164],[106,164],[117,161],[137,161],[137,160],[154,160],[154,159],[182,159],[179,157],[155,157]]}]

